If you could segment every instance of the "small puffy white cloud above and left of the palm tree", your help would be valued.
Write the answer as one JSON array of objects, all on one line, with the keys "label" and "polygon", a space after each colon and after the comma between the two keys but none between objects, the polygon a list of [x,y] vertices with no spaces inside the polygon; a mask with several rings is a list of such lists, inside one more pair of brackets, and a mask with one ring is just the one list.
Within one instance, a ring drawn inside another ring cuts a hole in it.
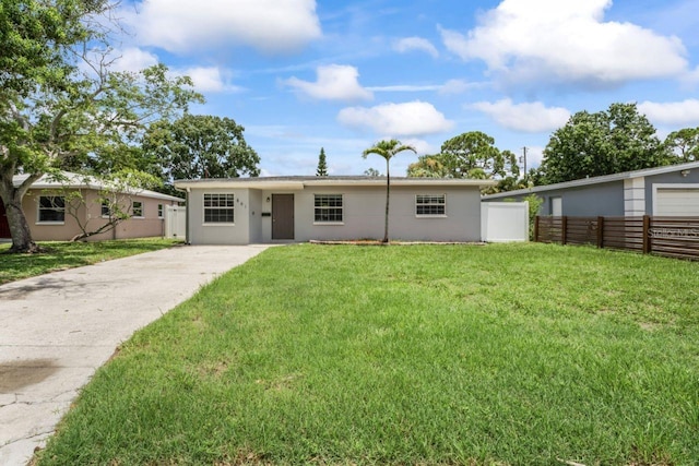
[{"label": "small puffy white cloud above and left of the palm tree", "polygon": [[284,83],[312,98],[328,100],[370,100],[374,94],[359,85],[356,68],[343,64],[318,67],[315,83],[291,77]]}]

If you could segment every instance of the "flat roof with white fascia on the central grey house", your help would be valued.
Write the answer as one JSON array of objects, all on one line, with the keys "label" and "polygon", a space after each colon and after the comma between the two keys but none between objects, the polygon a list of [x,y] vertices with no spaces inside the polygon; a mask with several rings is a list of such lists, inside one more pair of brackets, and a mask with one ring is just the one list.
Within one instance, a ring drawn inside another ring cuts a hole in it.
[{"label": "flat roof with white fascia on the central grey house", "polygon": [[[408,178],[391,177],[391,186],[420,187],[489,187],[495,180],[474,180],[465,178]],[[203,178],[199,180],[175,180],[175,188],[249,188],[280,189],[300,191],[310,186],[370,187],[386,186],[386,177],[336,176],[336,177],[258,177],[258,178]]]}]

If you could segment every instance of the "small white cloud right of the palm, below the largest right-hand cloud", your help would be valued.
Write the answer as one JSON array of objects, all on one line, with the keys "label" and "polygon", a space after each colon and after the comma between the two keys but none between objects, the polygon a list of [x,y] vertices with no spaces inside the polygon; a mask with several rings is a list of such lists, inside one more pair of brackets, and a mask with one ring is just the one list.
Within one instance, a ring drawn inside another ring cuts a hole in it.
[{"label": "small white cloud right of the palm, below the largest right-hand cloud", "polygon": [[541,101],[513,104],[505,98],[496,103],[479,101],[469,107],[481,110],[503,128],[528,133],[552,131],[566,124],[570,111],[561,107],[546,107]]}]

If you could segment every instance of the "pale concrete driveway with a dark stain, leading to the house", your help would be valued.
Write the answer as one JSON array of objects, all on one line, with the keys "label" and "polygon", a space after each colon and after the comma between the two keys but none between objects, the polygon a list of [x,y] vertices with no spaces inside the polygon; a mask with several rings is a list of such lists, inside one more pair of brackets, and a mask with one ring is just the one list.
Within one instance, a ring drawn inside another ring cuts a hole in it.
[{"label": "pale concrete driveway with a dark stain, leading to the house", "polygon": [[186,246],[0,286],[0,465],[25,465],[135,330],[266,246]]}]

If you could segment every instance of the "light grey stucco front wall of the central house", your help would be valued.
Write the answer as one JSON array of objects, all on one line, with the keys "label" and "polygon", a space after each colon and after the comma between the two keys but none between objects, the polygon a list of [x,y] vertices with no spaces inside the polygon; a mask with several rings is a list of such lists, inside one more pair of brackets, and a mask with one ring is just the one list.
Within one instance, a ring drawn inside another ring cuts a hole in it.
[{"label": "light grey stucco front wall of the central house", "polygon": [[[204,225],[203,194],[234,193],[235,225]],[[272,242],[272,194],[294,194],[294,241],[381,239],[386,187],[313,186],[296,191],[261,189],[192,189],[189,237],[194,244]],[[315,194],[343,195],[342,225],[313,222]],[[416,194],[446,194],[442,217],[415,215]],[[268,202],[268,198],[270,202]],[[477,187],[392,187],[389,236],[406,241],[479,241],[481,194]]]}]

